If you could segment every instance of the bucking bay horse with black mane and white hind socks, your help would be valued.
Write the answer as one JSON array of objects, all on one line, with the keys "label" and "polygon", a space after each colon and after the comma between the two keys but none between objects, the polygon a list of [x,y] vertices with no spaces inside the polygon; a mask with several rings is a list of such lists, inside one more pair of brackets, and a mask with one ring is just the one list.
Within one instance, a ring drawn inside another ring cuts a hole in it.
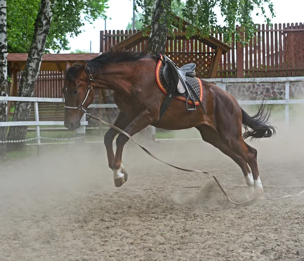
[{"label": "bucking bay horse with black mane and white hind socks", "polygon": [[[156,81],[159,60],[160,56],[146,52],[110,50],[84,64],[75,63],[71,66],[67,62],[62,89],[65,127],[69,130],[80,127],[84,110],[93,102],[92,91],[110,89],[120,109],[113,125],[130,136],[148,125],[169,130],[195,127],[205,142],[218,148],[241,167],[249,190],[261,194],[263,187],[257,166],[257,150],[245,143],[244,139],[269,138],[276,134],[268,121],[270,110],[265,110],[262,103],[257,113],[249,116],[232,95],[202,80],[202,104],[206,113],[201,106],[197,106],[195,111],[186,111],[184,102],[173,99],[160,119],[160,108],[166,95]],[[242,126],[245,129],[243,135]],[[116,187],[122,186],[128,178],[122,164],[122,154],[129,138],[119,134],[114,154],[112,143],[118,133],[110,128],[104,136],[108,166],[113,171]]]}]

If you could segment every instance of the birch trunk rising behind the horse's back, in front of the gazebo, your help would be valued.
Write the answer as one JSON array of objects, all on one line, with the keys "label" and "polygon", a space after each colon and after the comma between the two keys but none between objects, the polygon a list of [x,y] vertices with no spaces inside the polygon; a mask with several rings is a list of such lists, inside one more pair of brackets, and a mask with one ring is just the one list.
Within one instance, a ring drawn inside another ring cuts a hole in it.
[{"label": "birch trunk rising behind the horse's back, in front of the gazebo", "polygon": [[170,22],[170,10],[172,0],[155,0],[152,15],[151,32],[148,41],[150,53],[165,54],[167,33]]}]

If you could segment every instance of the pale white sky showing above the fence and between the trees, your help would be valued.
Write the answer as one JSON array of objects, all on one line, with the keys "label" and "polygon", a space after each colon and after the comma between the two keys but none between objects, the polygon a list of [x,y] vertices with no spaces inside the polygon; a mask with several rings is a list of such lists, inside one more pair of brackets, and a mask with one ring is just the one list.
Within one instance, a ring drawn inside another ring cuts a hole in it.
[{"label": "pale white sky showing above the fence and between the trees", "polygon": [[[304,22],[304,2],[303,0],[273,0],[276,17],[272,19],[272,23],[300,23]],[[128,23],[131,22],[133,16],[133,0],[109,0],[108,9],[106,11],[106,29],[107,30],[125,30]],[[219,17],[220,21],[221,18]],[[262,17],[254,16],[255,23],[263,23]],[[104,30],[104,19],[96,20],[93,24],[85,23],[81,28],[83,32],[77,37],[69,38],[68,51],[60,53],[70,53],[77,49],[90,51],[91,53],[99,53],[99,34]]]}]

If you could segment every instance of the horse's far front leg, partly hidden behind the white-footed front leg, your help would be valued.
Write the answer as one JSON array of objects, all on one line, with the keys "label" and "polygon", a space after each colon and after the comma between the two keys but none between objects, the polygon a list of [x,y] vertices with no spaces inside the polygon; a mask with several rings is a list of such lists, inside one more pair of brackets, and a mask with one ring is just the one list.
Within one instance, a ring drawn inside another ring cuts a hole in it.
[{"label": "horse's far front leg, partly hidden behind the white-footed front leg", "polygon": [[[114,122],[114,126],[124,129],[128,126],[128,124],[132,121],[133,118],[127,117],[126,114],[120,112]],[[114,152],[113,152],[113,140],[115,136],[119,132],[116,129],[110,128],[106,134],[104,135],[104,146],[106,149],[107,159],[108,159],[108,166],[110,169],[113,170],[113,162],[114,162]]]}]

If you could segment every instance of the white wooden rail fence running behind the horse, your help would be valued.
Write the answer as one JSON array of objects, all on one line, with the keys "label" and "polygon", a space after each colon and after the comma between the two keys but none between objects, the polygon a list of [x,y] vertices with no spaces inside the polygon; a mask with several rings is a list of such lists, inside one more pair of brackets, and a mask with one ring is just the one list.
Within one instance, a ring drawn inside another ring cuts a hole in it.
[{"label": "white wooden rail fence running behind the horse", "polygon": [[[290,100],[289,99],[289,83],[292,81],[303,81],[304,77],[275,77],[275,78],[213,78],[204,79],[209,82],[214,82],[221,89],[226,90],[227,83],[245,83],[245,82],[285,82],[285,100],[268,100],[266,104],[284,104],[285,105],[285,123],[289,124],[289,105],[290,104],[304,104],[302,100]],[[24,126],[32,125],[36,126],[36,139],[37,145],[41,144],[40,126],[42,125],[64,125],[63,121],[40,121],[39,120],[39,102],[64,102],[62,98],[36,98],[36,97],[0,97],[0,101],[23,101],[34,103],[35,121],[9,121],[0,122],[0,126]],[[260,104],[262,101],[238,101],[240,105],[254,105]],[[117,108],[116,104],[91,104],[89,108]],[[85,135],[86,133],[86,115],[81,119],[81,127],[76,130],[78,135]],[[155,131],[155,129],[154,129]]]}]

